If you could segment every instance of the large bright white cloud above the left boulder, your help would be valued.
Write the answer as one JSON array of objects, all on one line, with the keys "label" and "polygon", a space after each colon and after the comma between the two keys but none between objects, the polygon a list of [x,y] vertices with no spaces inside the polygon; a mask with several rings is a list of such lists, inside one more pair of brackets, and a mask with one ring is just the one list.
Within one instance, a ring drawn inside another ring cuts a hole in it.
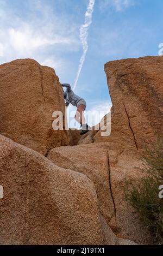
[{"label": "large bright white cloud above the left boulder", "polygon": [[38,62],[52,63],[54,67],[54,56],[58,59],[57,67],[61,67],[60,52],[79,49],[77,25],[70,23],[68,17],[60,19],[48,4],[42,8],[41,1],[29,1],[26,18],[20,17],[16,11],[4,2],[0,9],[3,24],[0,29],[0,63],[16,58],[34,58]]}]

